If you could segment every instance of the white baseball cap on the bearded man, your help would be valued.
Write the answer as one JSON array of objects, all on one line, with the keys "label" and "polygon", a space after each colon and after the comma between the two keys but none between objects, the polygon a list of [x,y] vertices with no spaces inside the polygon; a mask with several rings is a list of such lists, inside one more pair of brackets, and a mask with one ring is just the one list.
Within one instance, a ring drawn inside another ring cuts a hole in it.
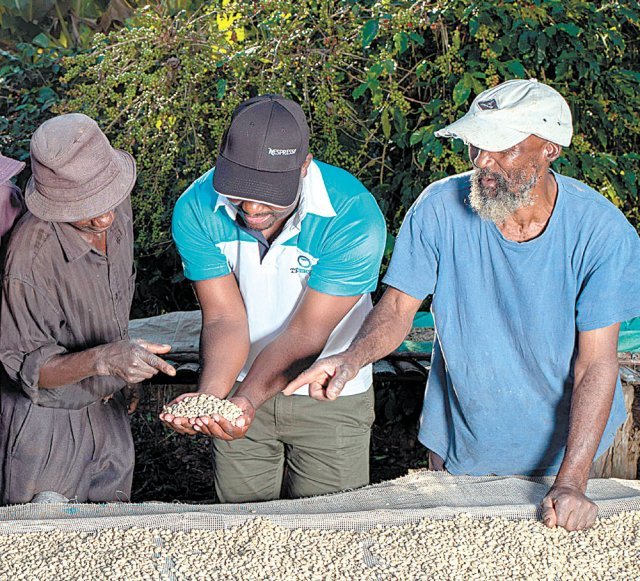
[{"label": "white baseball cap on the bearded man", "polygon": [[564,97],[536,79],[506,81],[480,93],[468,113],[437,137],[456,137],[485,151],[504,151],[530,135],[568,147],[573,126]]}]

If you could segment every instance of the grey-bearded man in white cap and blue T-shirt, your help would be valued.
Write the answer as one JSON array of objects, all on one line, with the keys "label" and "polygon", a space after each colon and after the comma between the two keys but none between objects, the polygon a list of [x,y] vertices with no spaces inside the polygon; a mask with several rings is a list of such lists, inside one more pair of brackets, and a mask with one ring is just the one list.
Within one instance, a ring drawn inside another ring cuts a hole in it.
[{"label": "grey-bearded man in white cap and blue T-shirt", "polygon": [[594,457],[624,421],[619,323],[640,314],[640,240],[584,183],[552,171],[571,142],[553,88],[507,81],[437,135],[473,170],[431,184],[409,210],[388,289],[348,350],[292,382],[332,399],[393,350],[433,294],[436,340],[420,441],[454,474],[555,475],[548,526],[590,526]]}]

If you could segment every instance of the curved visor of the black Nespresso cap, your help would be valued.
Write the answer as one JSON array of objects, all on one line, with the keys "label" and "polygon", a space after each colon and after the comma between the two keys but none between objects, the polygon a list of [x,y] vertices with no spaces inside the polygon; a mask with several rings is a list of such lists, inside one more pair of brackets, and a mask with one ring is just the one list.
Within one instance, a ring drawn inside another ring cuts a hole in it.
[{"label": "curved visor of the black Nespresso cap", "polygon": [[300,169],[283,172],[259,171],[218,156],[213,187],[227,198],[286,208],[296,201]]}]

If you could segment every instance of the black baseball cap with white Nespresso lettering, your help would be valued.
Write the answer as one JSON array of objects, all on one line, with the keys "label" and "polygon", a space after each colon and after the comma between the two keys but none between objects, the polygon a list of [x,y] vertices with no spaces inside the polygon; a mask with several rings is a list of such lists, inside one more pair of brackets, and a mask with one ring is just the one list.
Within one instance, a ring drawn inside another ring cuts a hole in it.
[{"label": "black baseball cap with white Nespresso lettering", "polygon": [[233,112],[213,187],[229,198],[290,206],[308,153],[309,126],[300,105],[280,95],[254,97]]}]

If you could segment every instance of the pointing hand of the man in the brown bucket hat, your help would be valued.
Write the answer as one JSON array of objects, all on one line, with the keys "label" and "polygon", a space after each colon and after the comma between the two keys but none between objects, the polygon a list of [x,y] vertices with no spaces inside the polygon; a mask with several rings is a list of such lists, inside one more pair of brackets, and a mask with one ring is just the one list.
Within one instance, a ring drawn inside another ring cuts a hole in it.
[{"label": "pointing hand of the man in the brown bucket hat", "polygon": [[98,375],[113,375],[127,383],[140,383],[162,371],[175,375],[176,370],[159,354],[171,351],[171,345],[136,341],[116,341],[100,347]]}]

